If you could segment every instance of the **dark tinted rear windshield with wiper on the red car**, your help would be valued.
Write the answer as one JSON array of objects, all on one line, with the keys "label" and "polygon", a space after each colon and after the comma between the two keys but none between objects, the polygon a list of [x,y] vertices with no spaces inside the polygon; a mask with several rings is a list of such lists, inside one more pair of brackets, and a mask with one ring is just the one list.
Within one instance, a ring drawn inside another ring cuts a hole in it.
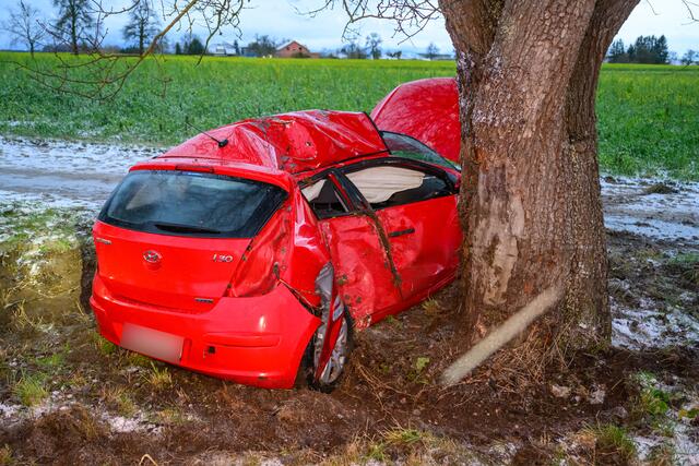
[{"label": "dark tinted rear windshield with wiper on the red car", "polygon": [[121,181],[99,219],[163,235],[252,238],[285,199],[283,189],[245,178],[137,170]]}]

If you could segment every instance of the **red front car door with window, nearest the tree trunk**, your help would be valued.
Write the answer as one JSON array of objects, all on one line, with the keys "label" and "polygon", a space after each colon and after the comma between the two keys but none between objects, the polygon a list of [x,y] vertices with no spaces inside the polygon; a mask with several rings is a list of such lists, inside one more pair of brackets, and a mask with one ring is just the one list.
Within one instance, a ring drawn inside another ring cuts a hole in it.
[{"label": "red front car door with window, nearest the tree trunk", "polygon": [[347,166],[343,175],[386,231],[404,300],[424,299],[453,278],[461,247],[453,174],[384,157]]}]

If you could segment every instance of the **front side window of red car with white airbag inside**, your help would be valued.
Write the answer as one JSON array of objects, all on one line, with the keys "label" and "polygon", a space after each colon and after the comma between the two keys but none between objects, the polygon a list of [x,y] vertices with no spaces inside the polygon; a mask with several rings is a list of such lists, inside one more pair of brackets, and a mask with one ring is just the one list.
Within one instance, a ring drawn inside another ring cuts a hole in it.
[{"label": "front side window of red car with white airbag inside", "polygon": [[345,177],[374,210],[454,193],[452,187],[441,177],[412,167],[379,165],[345,172]]}]

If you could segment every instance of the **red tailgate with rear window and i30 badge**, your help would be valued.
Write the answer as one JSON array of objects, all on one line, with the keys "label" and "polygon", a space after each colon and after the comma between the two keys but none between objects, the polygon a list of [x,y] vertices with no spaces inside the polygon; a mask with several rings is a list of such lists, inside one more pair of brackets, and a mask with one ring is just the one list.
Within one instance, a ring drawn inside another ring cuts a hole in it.
[{"label": "red tailgate with rear window and i30 badge", "polygon": [[93,229],[98,274],[123,300],[183,312],[211,309],[285,198],[281,188],[256,180],[133,171]]}]

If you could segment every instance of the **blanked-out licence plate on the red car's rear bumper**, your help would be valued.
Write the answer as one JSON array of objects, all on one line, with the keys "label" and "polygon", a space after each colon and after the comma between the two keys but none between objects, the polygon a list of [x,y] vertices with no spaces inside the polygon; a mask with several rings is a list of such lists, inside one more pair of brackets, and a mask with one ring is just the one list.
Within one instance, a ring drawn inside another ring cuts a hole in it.
[{"label": "blanked-out licence plate on the red car's rear bumper", "polygon": [[122,347],[171,363],[180,361],[183,342],[181,336],[129,323],[121,333]]}]

